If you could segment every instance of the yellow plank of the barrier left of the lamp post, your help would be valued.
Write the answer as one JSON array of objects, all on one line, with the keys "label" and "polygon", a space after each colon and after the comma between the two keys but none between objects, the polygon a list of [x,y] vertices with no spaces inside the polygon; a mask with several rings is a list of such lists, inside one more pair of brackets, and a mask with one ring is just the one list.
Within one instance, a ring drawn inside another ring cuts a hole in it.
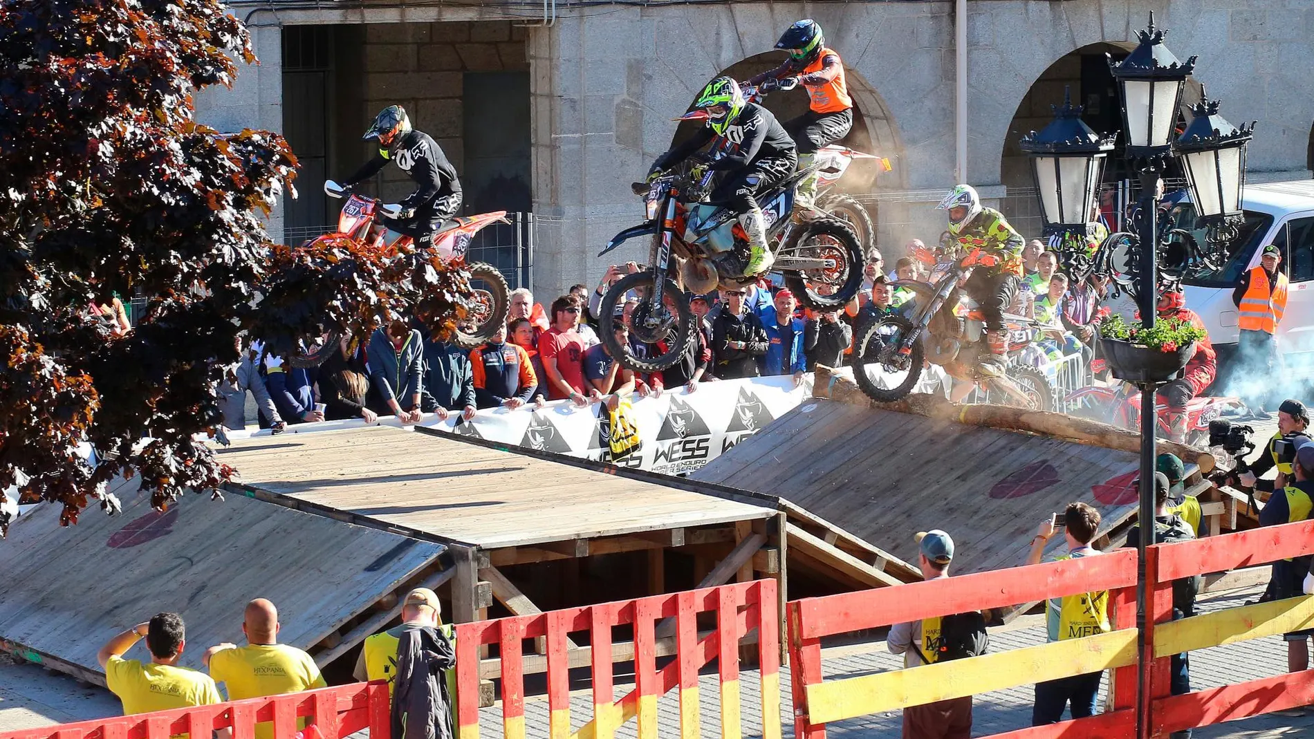
[{"label": "yellow plank of the barrier left of the lamp post", "polygon": [[808,721],[827,723],[1137,662],[1137,630],[1051,642],[808,685]]}]

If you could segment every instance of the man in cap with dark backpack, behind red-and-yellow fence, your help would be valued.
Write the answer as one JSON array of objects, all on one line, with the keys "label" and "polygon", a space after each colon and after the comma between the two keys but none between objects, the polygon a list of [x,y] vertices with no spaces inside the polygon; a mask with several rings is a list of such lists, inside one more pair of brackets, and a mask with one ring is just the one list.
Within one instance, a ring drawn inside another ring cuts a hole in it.
[{"label": "man in cap with dark backpack, behind red-and-yellow fence", "polygon": [[[917,564],[924,580],[949,578],[954,559],[954,539],[940,529],[917,534]],[[938,662],[936,642],[941,635],[942,617],[895,623],[890,627],[886,647],[904,655],[904,667]],[[904,709],[903,735],[908,738],[967,739],[972,734],[972,697],[950,698]]]}]

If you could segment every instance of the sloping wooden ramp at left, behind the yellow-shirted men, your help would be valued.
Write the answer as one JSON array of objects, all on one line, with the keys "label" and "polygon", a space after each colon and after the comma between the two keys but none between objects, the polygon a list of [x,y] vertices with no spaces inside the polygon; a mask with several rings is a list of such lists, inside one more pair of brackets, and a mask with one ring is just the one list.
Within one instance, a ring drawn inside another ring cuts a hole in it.
[{"label": "sloping wooden ramp at left, behind the yellow-shirted men", "polygon": [[92,508],[60,528],[59,508],[42,504],[11,526],[0,542],[0,646],[104,685],[101,644],[172,610],[187,622],[183,664],[200,669],[206,647],[243,642],[247,601],[267,597],[279,641],[323,665],[396,614],[398,589],[443,576],[436,543],[238,495],[189,495],[160,513],[135,479],[116,487],[117,516]]}]

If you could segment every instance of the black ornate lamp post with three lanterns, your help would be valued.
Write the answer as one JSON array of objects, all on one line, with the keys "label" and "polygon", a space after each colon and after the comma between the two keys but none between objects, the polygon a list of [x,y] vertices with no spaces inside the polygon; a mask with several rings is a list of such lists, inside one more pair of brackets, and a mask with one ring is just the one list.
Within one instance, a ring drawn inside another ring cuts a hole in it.
[{"label": "black ornate lamp post with three lanterns", "polygon": [[[1141,198],[1131,226],[1134,232],[1120,236],[1129,244],[1127,265],[1131,276],[1125,286],[1130,287],[1129,291],[1137,299],[1144,328],[1155,324],[1159,302],[1158,261],[1160,252],[1168,247],[1167,242],[1160,243],[1156,223],[1168,159],[1181,159],[1196,211],[1210,227],[1206,240],[1215,253],[1226,253],[1227,242],[1235,234],[1234,224],[1242,215],[1246,144],[1254,130],[1254,123],[1250,127],[1233,126],[1218,116],[1218,102],[1206,98],[1190,108],[1190,125],[1176,142],[1172,140],[1181,89],[1194,70],[1196,56],[1180,62],[1164,47],[1164,30],[1155,29],[1151,12],[1150,26],[1137,34],[1139,43],[1135,50],[1118,64],[1109,58],[1109,71],[1117,80],[1122,98],[1125,158],[1141,172]],[[1031,158],[1046,232],[1085,231],[1084,222],[1074,222],[1070,205],[1081,202],[1087,209],[1083,213],[1089,214],[1105,152],[1113,148],[1113,137],[1101,138],[1076,116],[1080,116],[1080,108],[1074,108],[1064,100],[1063,108],[1055,108],[1055,121],[1045,131],[1033,131],[1021,140],[1022,150]],[[1093,181],[1089,180],[1092,171],[1096,172]],[[1097,259],[1108,260],[1110,242],[1113,239],[1101,244],[1102,253]],[[1208,261],[1204,260],[1206,264]],[[1192,269],[1201,266],[1205,265],[1200,260],[1188,259],[1183,261],[1181,269],[1168,270],[1166,278],[1181,280]],[[1155,541],[1155,394],[1159,381],[1137,385],[1141,389],[1141,546],[1137,579],[1141,679],[1137,713],[1138,717],[1144,717],[1151,698],[1147,686],[1154,662],[1146,639],[1146,623],[1152,618],[1146,608],[1146,547]],[[1148,736],[1148,728],[1138,726],[1138,736]]]}]

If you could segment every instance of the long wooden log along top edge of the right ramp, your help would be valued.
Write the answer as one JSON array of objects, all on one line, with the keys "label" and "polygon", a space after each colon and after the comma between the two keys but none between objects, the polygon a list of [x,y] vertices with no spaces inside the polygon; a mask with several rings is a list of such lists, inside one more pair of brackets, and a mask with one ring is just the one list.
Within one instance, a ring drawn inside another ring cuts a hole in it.
[{"label": "long wooden log along top edge of the right ramp", "polygon": [[[950,403],[940,395],[928,395],[924,392],[912,392],[895,403],[876,403],[871,398],[867,398],[857,382],[833,374],[833,370],[825,365],[817,365],[816,368],[812,394],[816,398],[866,406],[878,411],[912,413],[933,420],[955,421],[1001,431],[1020,431],[1076,444],[1130,452],[1133,454],[1141,452],[1141,434],[1066,413],[1029,411],[1007,406],[962,406],[959,403]],[[1217,459],[1208,450],[1187,446],[1185,444],[1160,438],[1159,452],[1171,452],[1187,463],[1196,463],[1200,471],[1205,474],[1213,471],[1217,465]]]}]

